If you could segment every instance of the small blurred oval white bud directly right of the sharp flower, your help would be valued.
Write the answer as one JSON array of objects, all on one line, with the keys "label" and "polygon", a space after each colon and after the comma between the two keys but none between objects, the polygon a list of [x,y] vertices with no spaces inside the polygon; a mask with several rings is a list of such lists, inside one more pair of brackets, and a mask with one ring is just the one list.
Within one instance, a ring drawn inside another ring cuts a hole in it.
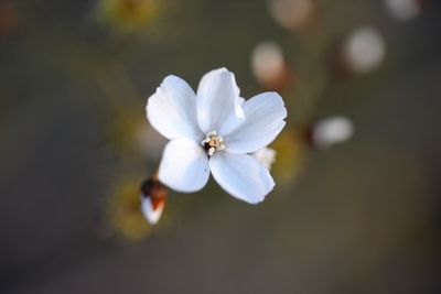
[{"label": "small blurred oval white bud directly right of the sharp flower", "polygon": [[351,120],[344,117],[330,117],[319,120],[312,127],[312,141],[319,149],[327,149],[335,143],[344,142],[354,133]]}]

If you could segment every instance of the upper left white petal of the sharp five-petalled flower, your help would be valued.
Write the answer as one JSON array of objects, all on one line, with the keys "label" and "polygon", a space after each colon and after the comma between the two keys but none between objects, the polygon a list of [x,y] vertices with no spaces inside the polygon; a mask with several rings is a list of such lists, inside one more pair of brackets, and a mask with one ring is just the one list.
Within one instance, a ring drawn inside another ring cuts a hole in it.
[{"label": "upper left white petal of the sharp five-petalled flower", "polygon": [[168,76],[150,96],[147,118],[163,137],[180,137],[202,140],[203,133],[197,124],[196,96],[185,80]]}]

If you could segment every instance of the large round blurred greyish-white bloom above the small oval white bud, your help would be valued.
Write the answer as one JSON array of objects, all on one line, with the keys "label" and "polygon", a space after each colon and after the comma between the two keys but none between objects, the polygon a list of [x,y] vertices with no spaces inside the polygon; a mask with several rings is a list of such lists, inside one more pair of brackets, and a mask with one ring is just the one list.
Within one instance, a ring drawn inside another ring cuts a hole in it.
[{"label": "large round blurred greyish-white bloom above the small oval white bud", "polygon": [[379,67],[386,55],[381,34],[370,26],[352,32],[343,44],[343,58],[353,73],[363,74]]}]

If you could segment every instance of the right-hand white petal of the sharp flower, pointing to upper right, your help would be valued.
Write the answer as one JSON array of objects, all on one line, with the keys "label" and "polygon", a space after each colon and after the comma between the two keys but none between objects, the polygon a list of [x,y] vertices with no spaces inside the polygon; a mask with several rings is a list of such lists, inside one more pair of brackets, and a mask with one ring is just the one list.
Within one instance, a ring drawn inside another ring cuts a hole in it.
[{"label": "right-hand white petal of the sharp flower, pointing to upper right", "polygon": [[251,153],[271,143],[283,129],[287,109],[277,92],[262,92],[243,105],[245,122],[225,135],[226,151]]}]

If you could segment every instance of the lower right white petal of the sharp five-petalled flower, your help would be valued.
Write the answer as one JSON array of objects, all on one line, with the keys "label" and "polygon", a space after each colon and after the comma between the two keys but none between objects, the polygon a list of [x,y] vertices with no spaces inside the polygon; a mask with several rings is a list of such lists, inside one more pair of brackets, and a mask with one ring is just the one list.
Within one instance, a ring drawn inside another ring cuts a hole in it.
[{"label": "lower right white petal of the sharp five-petalled flower", "polygon": [[249,204],[262,202],[275,186],[268,170],[248,154],[215,153],[209,170],[220,187]]}]

